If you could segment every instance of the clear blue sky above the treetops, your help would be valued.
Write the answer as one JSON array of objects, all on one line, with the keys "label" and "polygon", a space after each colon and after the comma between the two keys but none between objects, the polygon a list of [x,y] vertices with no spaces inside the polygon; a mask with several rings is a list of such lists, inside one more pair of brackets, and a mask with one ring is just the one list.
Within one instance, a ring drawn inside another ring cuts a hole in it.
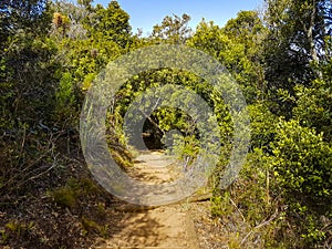
[{"label": "clear blue sky above the treetops", "polygon": [[[111,0],[94,0],[107,7]],[[187,13],[191,17],[189,25],[196,25],[205,18],[219,25],[235,18],[240,10],[255,10],[262,7],[263,0],[117,0],[122,9],[131,15],[133,32],[142,28],[144,34],[160,23],[165,15]]]}]

